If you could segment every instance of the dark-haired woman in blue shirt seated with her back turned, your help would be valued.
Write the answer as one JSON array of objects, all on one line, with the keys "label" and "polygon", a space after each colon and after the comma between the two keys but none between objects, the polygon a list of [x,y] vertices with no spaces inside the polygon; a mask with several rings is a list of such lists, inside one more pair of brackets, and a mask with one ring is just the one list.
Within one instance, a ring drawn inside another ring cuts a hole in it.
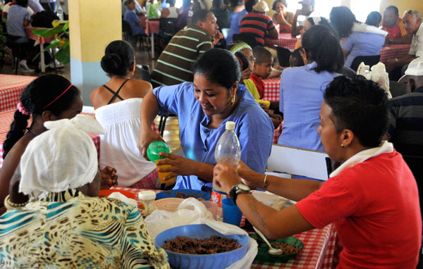
[{"label": "dark-haired woman in blue shirt seated with her back turned", "polygon": [[278,144],[324,151],[320,142],[319,111],[324,89],[341,73],[343,53],[338,39],[324,25],[313,25],[302,37],[307,62],[281,75],[279,111],[283,111]]}]

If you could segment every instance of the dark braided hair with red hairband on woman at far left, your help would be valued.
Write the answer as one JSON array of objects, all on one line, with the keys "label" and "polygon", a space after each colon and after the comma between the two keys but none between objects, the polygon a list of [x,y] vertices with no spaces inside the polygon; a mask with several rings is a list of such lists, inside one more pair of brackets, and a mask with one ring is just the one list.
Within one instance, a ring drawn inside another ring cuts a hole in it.
[{"label": "dark braided hair with red hairband on woman at far left", "polygon": [[[32,115],[32,119],[41,116],[44,111],[51,111],[54,115],[59,116],[63,111],[71,107],[75,97],[80,96],[79,89],[72,86],[59,99],[50,104],[69,85],[71,85],[71,82],[61,75],[43,75],[37,77],[24,89],[20,96],[20,102],[25,110]],[[47,104],[50,105],[47,106]],[[18,110],[13,115],[11,129],[6,134],[6,140],[3,144],[3,159],[6,158],[13,145],[25,134],[30,115],[24,115]]]}]

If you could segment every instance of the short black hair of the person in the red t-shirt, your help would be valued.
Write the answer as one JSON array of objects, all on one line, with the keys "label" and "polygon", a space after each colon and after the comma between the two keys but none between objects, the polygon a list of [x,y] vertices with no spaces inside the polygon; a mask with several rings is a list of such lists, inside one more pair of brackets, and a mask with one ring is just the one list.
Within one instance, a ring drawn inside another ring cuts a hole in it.
[{"label": "short black hair of the person in the red t-shirt", "polygon": [[336,132],[353,131],[362,146],[376,147],[388,130],[389,101],[384,89],[361,75],[336,77],[324,101],[332,109]]}]

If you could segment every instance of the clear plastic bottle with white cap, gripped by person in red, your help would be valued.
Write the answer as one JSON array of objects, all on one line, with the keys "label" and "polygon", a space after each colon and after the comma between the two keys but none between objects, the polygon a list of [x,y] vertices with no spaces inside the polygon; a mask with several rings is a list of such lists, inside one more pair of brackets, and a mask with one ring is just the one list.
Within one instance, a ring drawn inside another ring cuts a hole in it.
[{"label": "clear plastic bottle with white cap, gripped by person in red", "polygon": [[[214,158],[216,163],[231,163],[231,165],[238,165],[241,158],[241,146],[238,137],[235,134],[235,123],[233,121],[226,122],[226,131],[216,144],[214,150]],[[223,189],[219,189],[213,182],[213,189],[220,194],[226,194]]]}]

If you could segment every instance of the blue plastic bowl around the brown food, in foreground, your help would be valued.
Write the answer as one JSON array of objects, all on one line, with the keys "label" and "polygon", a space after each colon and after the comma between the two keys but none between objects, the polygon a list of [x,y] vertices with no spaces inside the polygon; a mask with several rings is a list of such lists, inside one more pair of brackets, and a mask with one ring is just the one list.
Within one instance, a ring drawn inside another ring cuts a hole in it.
[{"label": "blue plastic bowl around the brown food, in foreground", "polygon": [[179,227],[173,227],[171,229],[161,232],[156,237],[156,246],[158,248],[163,247],[165,241],[176,238],[178,235],[182,237],[190,237],[203,239],[212,235],[219,237],[226,237],[238,240],[238,244],[242,247],[233,251],[223,252],[219,254],[207,254],[207,255],[192,255],[192,254],[179,254],[172,251],[166,251],[169,257],[169,263],[171,268],[175,269],[217,269],[226,268],[235,261],[243,258],[247,252],[248,236],[247,235],[223,235],[212,227],[205,224],[192,224],[183,225]]}]

